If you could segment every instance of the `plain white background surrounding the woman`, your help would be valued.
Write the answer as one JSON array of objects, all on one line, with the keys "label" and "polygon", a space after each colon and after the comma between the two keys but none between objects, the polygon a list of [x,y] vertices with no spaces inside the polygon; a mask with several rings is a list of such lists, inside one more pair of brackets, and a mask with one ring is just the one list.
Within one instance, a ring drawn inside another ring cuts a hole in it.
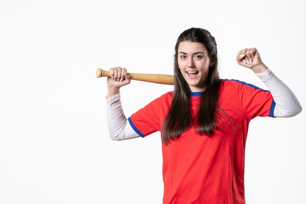
[{"label": "plain white background surrounding the woman", "polygon": [[[0,204],[161,204],[160,134],[109,139],[96,68],[172,74],[178,35],[216,38],[221,78],[266,89],[236,55],[256,47],[306,108],[306,3],[0,0]],[[127,116],[172,86],[123,87]],[[305,111],[256,118],[246,144],[247,204],[305,204]]]}]

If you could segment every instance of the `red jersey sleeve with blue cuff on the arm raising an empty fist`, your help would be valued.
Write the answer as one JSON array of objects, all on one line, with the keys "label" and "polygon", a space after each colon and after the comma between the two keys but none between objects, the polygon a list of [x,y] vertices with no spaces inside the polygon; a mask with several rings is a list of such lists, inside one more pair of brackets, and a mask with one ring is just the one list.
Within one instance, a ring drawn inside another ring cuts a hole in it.
[{"label": "red jersey sleeve with blue cuff on the arm raising an empty fist", "polygon": [[273,117],[275,102],[270,91],[262,90],[252,84],[230,80],[236,88],[242,109],[248,120],[257,116]]}]

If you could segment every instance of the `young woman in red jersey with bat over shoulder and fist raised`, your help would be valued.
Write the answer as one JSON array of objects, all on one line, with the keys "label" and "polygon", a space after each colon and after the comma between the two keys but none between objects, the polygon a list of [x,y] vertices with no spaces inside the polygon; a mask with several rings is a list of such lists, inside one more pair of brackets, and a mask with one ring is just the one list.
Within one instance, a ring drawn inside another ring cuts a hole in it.
[{"label": "young woman in red jersey with bat over shoulder and fist raised", "polygon": [[110,68],[107,118],[113,140],[160,131],[163,204],[245,204],[244,150],[250,120],[291,117],[302,111],[294,93],[262,62],[256,48],[236,57],[269,91],[238,80],[220,80],[217,44],[205,29],[190,28],[175,45],[175,88],[125,117],[120,87],[125,68]]}]

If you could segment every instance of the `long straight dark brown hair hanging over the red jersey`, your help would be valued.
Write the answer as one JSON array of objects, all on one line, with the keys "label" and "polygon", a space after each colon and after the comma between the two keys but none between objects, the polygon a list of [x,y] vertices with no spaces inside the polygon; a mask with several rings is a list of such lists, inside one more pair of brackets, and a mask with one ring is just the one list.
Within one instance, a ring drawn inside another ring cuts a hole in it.
[{"label": "long straight dark brown hair hanging over the red jersey", "polygon": [[[208,57],[214,63],[208,71],[207,87],[201,95],[197,115],[192,113],[190,88],[178,67],[178,46],[184,41],[203,44],[208,51]],[[174,56],[175,88],[170,110],[162,126],[162,141],[164,144],[169,144],[169,139],[178,138],[191,126],[195,127],[198,134],[207,136],[212,136],[214,130],[218,128],[215,116],[217,110],[219,110],[218,99],[221,81],[219,79],[217,55],[215,38],[205,29],[190,28],[178,36]]]}]

